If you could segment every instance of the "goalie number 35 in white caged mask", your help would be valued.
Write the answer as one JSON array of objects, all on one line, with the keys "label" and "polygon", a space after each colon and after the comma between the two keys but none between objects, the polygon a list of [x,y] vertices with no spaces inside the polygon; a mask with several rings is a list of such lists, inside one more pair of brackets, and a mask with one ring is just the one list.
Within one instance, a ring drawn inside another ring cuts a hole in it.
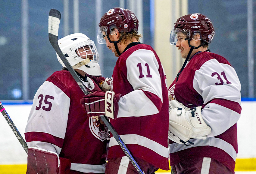
[{"label": "goalie number 35 in white caged mask", "polygon": [[[58,44],[87,89],[101,91],[86,76],[101,76],[94,42],[75,33],[61,38]],[[84,93],[57,57],[64,68],[40,86],[28,118],[27,173],[105,173],[108,129],[98,117],[86,116],[80,104]]]}]

